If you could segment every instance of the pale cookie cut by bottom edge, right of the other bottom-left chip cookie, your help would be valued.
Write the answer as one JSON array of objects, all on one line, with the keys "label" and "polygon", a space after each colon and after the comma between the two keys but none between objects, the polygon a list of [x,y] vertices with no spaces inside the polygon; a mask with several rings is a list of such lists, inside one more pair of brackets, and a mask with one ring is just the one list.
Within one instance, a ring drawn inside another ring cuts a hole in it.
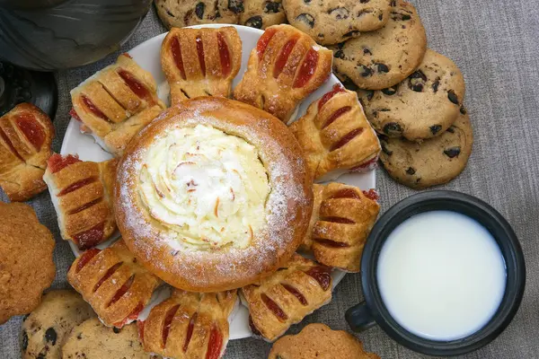
[{"label": "pale cookie cut by bottom edge, right of the other bottom-left chip cookie", "polygon": [[150,359],[138,339],[137,324],[108,328],[97,318],[85,320],[73,328],[62,346],[63,359]]}]

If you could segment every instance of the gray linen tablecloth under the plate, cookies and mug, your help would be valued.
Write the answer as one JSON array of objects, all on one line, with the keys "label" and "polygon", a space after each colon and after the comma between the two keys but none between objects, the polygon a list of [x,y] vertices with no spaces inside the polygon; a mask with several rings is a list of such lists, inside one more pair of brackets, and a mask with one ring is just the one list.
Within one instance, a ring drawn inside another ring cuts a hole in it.
[{"label": "gray linen tablecloth under the plate, cookies and mug", "polygon": [[[451,57],[466,80],[465,104],[472,118],[475,142],[464,173],[442,188],[480,197],[506,216],[526,256],[527,285],[517,317],[494,342],[466,358],[539,358],[539,3],[468,0],[415,0],[429,36],[429,46]],[[152,9],[122,50],[135,47],[164,31]],[[59,105],[54,150],[59,151],[69,121],[69,90],[109,65],[110,56],[92,66],[57,74]],[[415,191],[376,171],[382,210]],[[1,195],[5,201],[4,195]],[[57,239],[57,277],[53,288],[67,287],[66,270],[74,257],[62,241],[49,194],[31,201],[41,223]],[[1,219],[0,219],[1,220]],[[334,329],[347,329],[343,315],[362,300],[360,276],[347,275],[336,288],[333,300],[289,330],[296,333],[307,323],[323,322]],[[0,326],[0,358],[20,357],[21,318]],[[380,328],[358,337],[368,350],[383,358],[419,358],[397,345]],[[266,358],[270,345],[252,338],[229,343],[226,359]],[[109,358],[106,358],[109,359]]]}]

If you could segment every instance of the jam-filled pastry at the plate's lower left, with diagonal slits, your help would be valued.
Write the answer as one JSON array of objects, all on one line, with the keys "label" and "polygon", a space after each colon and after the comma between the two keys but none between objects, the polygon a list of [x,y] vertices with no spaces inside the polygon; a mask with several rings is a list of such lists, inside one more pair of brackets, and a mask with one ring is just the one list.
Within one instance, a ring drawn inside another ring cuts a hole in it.
[{"label": "jam-filled pastry at the plate's lower left, with diagonal slits", "polygon": [[92,305],[103,324],[117,328],[137,320],[162,284],[137,263],[121,239],[105,250],[86,250],[69,268],[67,281]]}]

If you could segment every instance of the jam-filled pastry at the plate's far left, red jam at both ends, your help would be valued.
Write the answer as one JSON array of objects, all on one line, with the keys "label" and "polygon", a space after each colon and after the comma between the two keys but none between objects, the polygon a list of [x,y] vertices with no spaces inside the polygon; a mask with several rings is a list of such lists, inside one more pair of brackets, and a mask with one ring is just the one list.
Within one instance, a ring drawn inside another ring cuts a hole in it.
[{"label": "jam-filled pastry at the plate's far left, red jam at both ends", "polygon": [[62,238],[87,250],[116,230],[112,189],[117,160],[83,162],[53,154],[43,180],[49,186]]}]

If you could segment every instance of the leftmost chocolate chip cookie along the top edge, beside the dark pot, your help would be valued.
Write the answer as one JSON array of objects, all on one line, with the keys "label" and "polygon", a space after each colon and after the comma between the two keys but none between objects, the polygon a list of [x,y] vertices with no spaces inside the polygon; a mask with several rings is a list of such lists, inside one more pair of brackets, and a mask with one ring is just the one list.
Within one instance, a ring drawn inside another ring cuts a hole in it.
[{"label": "leftmost chocolate chip cookie along the top edge, beside the dark pot", "polygon": [[155,0],[157,14],[168,29],[201,23],[238,23],[243,0]]}]

